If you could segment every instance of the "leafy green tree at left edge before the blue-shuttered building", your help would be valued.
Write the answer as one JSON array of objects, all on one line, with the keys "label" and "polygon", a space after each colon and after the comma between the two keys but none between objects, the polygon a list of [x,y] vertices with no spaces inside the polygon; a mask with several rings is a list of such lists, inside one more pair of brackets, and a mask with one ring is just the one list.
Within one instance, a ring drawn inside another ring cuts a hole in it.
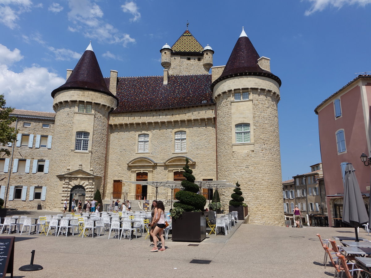
[{"label": "leafy green tree at left edge before the blue-shuttered building", "polygon": [[5,153],[9,156],[10,150],[1,147],[7,146],[9,142],[14,142],[17,139],[18,131],[10,126],[17,118],[14,116],[9,117],[9,114],[13,112],[14,108],[5,107],[5,105],[4,95],[0,95],[0,155],[1,153]]}]

